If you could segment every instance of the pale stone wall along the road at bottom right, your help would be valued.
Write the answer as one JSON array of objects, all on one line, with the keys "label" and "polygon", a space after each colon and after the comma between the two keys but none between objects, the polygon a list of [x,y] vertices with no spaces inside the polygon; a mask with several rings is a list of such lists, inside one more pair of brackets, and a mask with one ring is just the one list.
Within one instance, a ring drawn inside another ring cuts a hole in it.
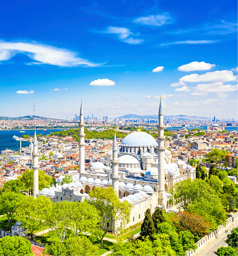
[{"label": "pale stone wall along the road at bottom right", "polygon": [[[231,214],[229,214],[229,215],[231,215]],[[227,219],[226,226],[225,225],[218,226],[218,228],[216,230],[210,232],[206,236],[202,237],[202,239],[200,239],[198,242],[196,242],[195,244],[198,246],[198,249],[196,249],[195,251],[194,250],[187,251],[186,256],[193,256],[193,255],[197,254],[209,242],[214,240],[219,234],[221,234],[224,230],[226,230],[227,226],[231,225],[235,221],[235,219],[237,219],[237,217],[238,217],[238,211],[236,213],[232,214],[232,216]]]}]

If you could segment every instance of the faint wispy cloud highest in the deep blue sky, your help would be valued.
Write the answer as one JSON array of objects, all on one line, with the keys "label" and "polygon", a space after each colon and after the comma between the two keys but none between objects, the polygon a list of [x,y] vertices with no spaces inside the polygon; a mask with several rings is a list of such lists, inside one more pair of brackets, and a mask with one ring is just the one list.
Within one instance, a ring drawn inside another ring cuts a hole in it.
[{"label": "faint wispy cloud highest in the deep blue sky", "polygon": [[172,19],[168,13],[162,13],[157,15],[149,15],[146,17],[139,17],[134,20],[135,23],[140,23],[149,26],[162,26],[164,24],[172,23]]}]

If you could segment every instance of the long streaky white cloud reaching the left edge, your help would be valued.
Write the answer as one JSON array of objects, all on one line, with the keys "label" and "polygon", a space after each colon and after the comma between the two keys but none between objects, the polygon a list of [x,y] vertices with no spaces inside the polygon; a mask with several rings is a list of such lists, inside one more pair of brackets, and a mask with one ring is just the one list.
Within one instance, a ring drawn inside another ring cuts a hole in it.
[{"label": "long streaky white cloud reaching the left edge", "polygon": [[0,60],[9,60],[17,53],[24,53],[35,60],[32,64],[49,64],[61,67],[71,66],[100,66],[89,60],[77,57],[75,52],[60,49],[49,45],[27,42],[4,42],[0,41]]}]

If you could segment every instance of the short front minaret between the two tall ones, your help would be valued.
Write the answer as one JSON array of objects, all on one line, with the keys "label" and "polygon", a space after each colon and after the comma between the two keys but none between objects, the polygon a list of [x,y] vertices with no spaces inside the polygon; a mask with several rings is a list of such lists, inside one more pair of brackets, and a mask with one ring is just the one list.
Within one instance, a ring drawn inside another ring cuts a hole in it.
[{"label": "short front minaret between the two tall ones", "polygon": [[116,191],[117,195],[119,196],[119,178],[120,175],[118,175],[118,145],[116,142],[116,132],[114,135],[114,141],[113,141],[113,148],[112,148],[112,187]]}]

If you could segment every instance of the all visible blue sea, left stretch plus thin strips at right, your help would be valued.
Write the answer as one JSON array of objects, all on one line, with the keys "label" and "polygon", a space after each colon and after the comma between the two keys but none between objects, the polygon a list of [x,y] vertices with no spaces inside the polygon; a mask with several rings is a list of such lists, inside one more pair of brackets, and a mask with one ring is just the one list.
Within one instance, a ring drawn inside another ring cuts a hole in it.
[{"label": "all visible blue sea, left stretch plus thin strips at right", "polygon": [[[178,130],[181,129],[182,127],[166,127],[166,129],[168,129],[168,131],[174,131],[174,130]],[[206,130],[206,126],[202,126],[202,127],[186,127],[186,129],[196,129],[199,128],[201,129],[205,129]],[[237,131],[238,128],[237,126],[227,126],[225,127],[225,129],[227,131]],[[58,132],[58,131],[62,131],[65,129],[47,129],[43,132],[43,129],[37,129],[36,130],[36,134],[43,134],[43,135],[48,135],[51,132]],[[20,131],[25,131],[25,132],[20,132]],[[20,149],[20,141],[14,141],[12,139],[13,135],[18,136],[19,138],[25,134],[29,134],[31,136],[34,135],[34,129],[30,129],[30,130],[1,130],[0,131],[0,151],[2,150],[6,150],[6,148],[11,149],[11,150],[19,150]],[[22,147],[27,147],[29,146],[29,142],[27,141],[22,141]]]}]

